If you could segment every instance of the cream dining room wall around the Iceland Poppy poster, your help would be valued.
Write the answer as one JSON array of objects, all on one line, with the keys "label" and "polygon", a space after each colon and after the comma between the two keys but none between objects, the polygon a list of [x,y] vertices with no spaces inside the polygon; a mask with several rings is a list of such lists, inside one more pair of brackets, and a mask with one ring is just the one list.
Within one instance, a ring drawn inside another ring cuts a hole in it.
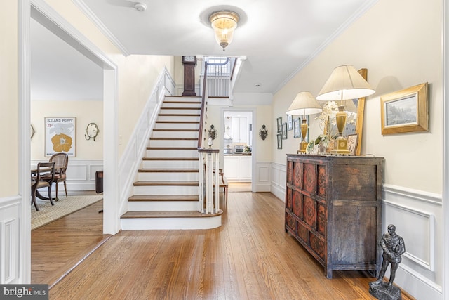
[{"label": "cream dining room wall around the Iceland Poppy poster", "polygon": [[[36,133],[31,140],[31,159],[48,160],[45,157],[45,117],[76,117],[76,159],[103,159],[103,101],[46,101],[31,102],[31,124]],[[95,141],[84,138],[89,123],[98,125],[100,132]]]}]

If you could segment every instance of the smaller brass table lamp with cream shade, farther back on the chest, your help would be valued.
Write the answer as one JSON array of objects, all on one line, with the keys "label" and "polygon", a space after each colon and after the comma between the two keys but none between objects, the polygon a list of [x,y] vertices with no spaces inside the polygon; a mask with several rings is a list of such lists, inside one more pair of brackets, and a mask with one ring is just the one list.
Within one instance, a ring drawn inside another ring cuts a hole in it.
[{"label": "smaller brass table lamp with cream shade, farther back on the chest", "polygon": [[301,137],[299,152],[306,152],[307,142],[305,136],[307,134],[307,120],[306,115],[313,115],[321,112],[322,108],[318,100],[314,98],[308,91],[298,93],[293,100],[293,103],[288,107],[287,115],[302,115],[301,123]]}]

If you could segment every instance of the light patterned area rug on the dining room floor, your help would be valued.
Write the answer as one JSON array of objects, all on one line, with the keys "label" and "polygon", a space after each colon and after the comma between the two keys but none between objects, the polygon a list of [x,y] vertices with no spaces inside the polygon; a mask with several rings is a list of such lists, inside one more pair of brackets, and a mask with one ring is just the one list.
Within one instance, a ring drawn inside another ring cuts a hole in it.
[{"label": "light patterned area rug on the dining room floor", "polygon": [[102,195],[60,197],[58,201],[53,201],[55,203],[53,206],[50,201],[36,199],[39,211],[36,211],[36,208],[32,205],[31,230],[72,214],[72,212],[79,211],[102,199]]}]

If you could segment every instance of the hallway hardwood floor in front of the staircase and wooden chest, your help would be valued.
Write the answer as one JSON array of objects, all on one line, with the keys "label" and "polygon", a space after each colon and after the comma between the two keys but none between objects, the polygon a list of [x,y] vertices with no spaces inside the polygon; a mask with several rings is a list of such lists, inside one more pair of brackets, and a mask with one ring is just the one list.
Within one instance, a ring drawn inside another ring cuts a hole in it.
[{"label": "hallway hardwood floor in front of the staircase and wooden chest", "polygon": [[[375,299],[367,273],[326,279],[283,229],[283,205],[270,193],[229,193],[220,228],[122,231],[54,285],[50,299]],[[78,218],[87,239],[90,221]],[[57,232],[47,240],[62,252],[74,247],[56,243]]]}]

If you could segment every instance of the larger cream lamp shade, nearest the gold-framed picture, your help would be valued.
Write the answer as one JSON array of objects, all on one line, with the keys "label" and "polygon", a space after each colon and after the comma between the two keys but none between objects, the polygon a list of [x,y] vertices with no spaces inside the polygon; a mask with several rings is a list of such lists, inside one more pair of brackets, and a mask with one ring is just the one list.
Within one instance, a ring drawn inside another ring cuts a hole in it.
[{"label": "larger cream lamp shade, nearest the gold-framed picture", "polygon": [[366,82],[352,65],[336,67],[323,89],[316,96],[322,101],[349,100],[375,93],[375,90]]}]

